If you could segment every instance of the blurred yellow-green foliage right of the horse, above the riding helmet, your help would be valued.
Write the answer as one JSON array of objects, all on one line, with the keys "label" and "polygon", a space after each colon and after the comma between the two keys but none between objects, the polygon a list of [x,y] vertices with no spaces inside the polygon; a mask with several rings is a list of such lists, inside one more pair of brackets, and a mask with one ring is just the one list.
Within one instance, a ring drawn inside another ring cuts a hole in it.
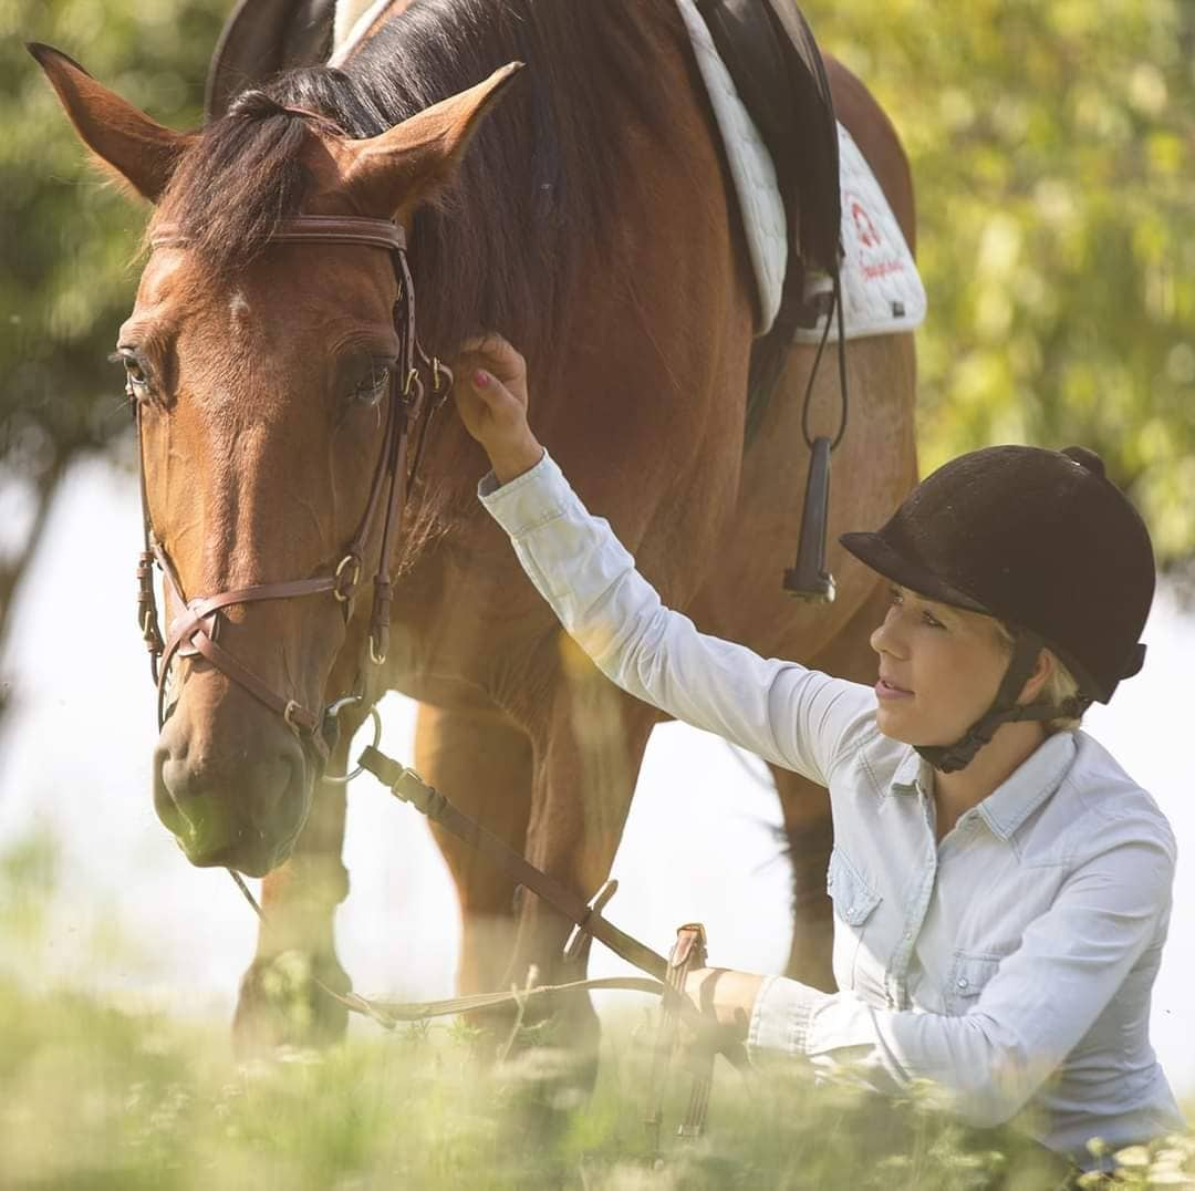
[{"label": "blurred yellow-green foliage right of the horse, above the riding helmet", "polygon": [[1195,5],[804,0],[918,194],[923,472],[998,441],[1103,456],[1195,555]]}]

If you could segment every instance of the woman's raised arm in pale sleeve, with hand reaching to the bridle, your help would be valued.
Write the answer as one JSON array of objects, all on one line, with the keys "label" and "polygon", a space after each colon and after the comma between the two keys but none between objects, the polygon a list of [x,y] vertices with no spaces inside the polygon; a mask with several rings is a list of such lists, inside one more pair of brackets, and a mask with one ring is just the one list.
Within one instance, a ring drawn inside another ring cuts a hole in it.
[{"label": "woman's raised arm in pale sleeve, with hand reaching to the bridle", "polygon": [[599,668],[669,715],[829,784],[853,740],[874,731],[872,691],[698,633],[664,607],[532,434],[521,356],[490,336],[468,346],[465,364],[458,407],[494,465],[479,495]]}]

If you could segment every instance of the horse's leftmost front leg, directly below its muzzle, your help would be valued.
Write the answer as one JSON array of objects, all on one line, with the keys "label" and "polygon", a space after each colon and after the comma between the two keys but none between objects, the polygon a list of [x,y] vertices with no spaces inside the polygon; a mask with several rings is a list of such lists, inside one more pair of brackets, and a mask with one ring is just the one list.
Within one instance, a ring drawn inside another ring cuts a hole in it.
[{"label": "horse's leftmost front leg, directly below its muzzle", "polygon": [[[348,716],[329,759],[343,774],[353,732]],[[240,982],[233,1018],[233,1050],[240,1057],[277,1046],[327,1046],[341,1040],[348,1009],[319,987],[337,992],[350,982],[336,954],[336,908],[348,896],[343,786],[320,782],[292,857],[262,881],[257,952]],[[319,982],[319,983],[317,983]]]}]

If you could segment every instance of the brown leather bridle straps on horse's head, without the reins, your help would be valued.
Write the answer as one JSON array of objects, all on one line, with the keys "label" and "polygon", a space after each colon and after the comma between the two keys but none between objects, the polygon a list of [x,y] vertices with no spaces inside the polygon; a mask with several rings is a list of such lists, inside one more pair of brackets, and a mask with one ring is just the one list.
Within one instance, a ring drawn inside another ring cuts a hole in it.
[{"label": "brown leather bridle straps on horse's head, without the reins", "polygon": [[[172,224],[160,224],[149,239],[152,248],[188,248],[188,238]],[[137,470],[141,489],[141,523],[143,548],[137,563],[137,623],[149,651],[149,670],[158,686],[158,728],[166,722],[166,684],[176,658],[203,656],[222,674],[246,690],[259,703],[281,715],[287,726],[317,753],[320,765],[326,764],[329,735],[335,731],[336,711],[347,702],[363,698],[363,691],[336,700],[326,708],[312,710],[298,700],[278,692],[244,662],[238,661],[216,641],[220,618],[237,604],[261,600],[296,599],[307,596],[331,594],[342,606],[345,624],[353,615],[353,601],[366,568],[364,551],[375,532],[379,517],[384,518],[381,546],[373,576],[373,609],[369,631],[362,649],[358,683],[366,673],[367,660],[380,666],[386,660],[390,637],[390,611],[393,596],[391,560],[403,525],[403,515],[418,472],[428,427],[436,410],[452,391],[452,369],[440,360],[428,356],[418,342],[415,329],[415,285],[406,259],[404,228],[386,219],[355,216],[302,215],[281,220],[270,237],[270,244],[347,244],[380,249],[390,254],[398,283],[394,299],[394,329],[398,331],[398,364],[390,378],[388,414],[381,457],[369,489],[369,500],[360,527],[348,544],[339,562],[330,574],[294,579],[276,584],[256,584],[219,592],[214,596],[192,597],[183,591],[170,555],[154,533],[146,493],[145,442],[141,427],[141,407],[134,399],[137,428]],[[435,395],[425,401],[427,374]],[[407,464],[412,430],[418,430],[418,446]],[[158,622],[153,568],[157,563],[165,576],[165,588],[183,611],[167,625],[163,637]],[[367,656],[366,656],[367,655]]]}]

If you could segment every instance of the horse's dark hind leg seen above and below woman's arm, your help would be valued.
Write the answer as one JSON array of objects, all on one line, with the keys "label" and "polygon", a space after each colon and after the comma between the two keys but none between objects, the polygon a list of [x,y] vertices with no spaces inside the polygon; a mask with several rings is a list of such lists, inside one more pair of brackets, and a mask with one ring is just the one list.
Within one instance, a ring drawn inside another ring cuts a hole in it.
[{"label": "horse's dark hind leg seen above and below woman's arm", "polygon": [[[884,617],[888,591],[878,586],[847,627],[814,658],[814,670],[871,685],[876,654],[871,633]],[[834,949],[832,903],[826,893],[826,869],[834,841],[826,789],[791,769],[768,766],[776,778],[792,862],[792,946],[785,975],[833,992],[836,989],[831,957]]]}]

